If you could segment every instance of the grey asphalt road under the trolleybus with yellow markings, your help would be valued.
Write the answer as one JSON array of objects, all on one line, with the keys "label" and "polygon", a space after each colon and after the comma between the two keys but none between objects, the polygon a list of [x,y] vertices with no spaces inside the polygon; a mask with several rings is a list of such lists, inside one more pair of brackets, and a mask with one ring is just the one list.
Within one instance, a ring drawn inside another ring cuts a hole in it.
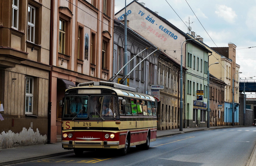
[{"label": "grey asphalt road under the trolleybus with yellow markings", "polygon": [[157,138],[150,149],[84,152],[15,165],[246,165],[256,144],[256,127],[205,130]]}]

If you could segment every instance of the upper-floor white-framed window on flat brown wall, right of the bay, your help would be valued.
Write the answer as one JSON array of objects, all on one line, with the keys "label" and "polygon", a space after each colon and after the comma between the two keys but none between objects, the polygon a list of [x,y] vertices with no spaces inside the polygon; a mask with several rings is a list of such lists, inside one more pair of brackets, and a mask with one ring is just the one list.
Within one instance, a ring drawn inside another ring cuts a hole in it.
[{"label": "upper-floor white-framed window on flat brown wall, right of the bay", "polygon": [[35,43],[35,16],[36,9],[28,5],[28,30],[27,30],[27,40]]}]

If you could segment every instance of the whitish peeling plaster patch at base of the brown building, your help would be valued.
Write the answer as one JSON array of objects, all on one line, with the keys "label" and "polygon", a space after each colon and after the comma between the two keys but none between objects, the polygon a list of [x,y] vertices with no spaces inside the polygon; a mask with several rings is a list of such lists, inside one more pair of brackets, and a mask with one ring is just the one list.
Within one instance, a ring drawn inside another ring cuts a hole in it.
[{"label": "whitish peeling plaster patch at base of the brown building", "polygon": [[0,134],[0,149],[45,144],[46,142],[46,134],[41,135],[38,129],[34,132],[30,127],[28,130],[23,127],[20,133],[13,133],[9,130]]}]

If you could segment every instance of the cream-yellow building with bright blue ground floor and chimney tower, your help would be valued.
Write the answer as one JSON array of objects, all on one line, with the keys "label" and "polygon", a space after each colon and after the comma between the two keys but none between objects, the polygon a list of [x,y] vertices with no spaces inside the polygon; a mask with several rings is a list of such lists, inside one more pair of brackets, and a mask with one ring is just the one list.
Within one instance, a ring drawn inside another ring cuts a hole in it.
[{"label": "cream-yellow building with bright blue ground floor and chimney tower", "polygon": [[[195,32],[191,32],[195,36]],[[234,91],[234,125],[239,125],[239,69],[240,65],[236,63],[236,45],[229,42],[228,47],[209,47],[204,45],[212,53],[209,54],[209,65],[219,62],[209,68],[209,72],[216,78],[226,83],[224,95],[224,124],[232,125],[232,103]],[[232,80],[234,79],[234,86]]]}]

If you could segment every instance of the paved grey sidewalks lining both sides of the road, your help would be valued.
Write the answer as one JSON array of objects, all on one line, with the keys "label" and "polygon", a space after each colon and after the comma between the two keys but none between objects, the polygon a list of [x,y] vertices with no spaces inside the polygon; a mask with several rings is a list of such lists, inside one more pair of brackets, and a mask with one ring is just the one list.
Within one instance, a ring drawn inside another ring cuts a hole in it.
[{"label": "paved grey sidewalks lining both sides of the road", "polygon": [[[159,138],[159,137],[182,134],[187,132],[209,130],[209,129],[210,130],[224,129],[229,127],[246,127],[246,126],[213,126],[210,128],[207,128],[207,127],[183,128],[183,131],[179,131],[179,129],[162,130],[162,131],[158,130],[156,135],[157,135],[157,138]],[[247,163],[248,166],[256,165],[255,147]],[[49,158],[54,156],[60,156],[60,155],[70,154],[73,152],[74,152],[73,150],[63,149],[60,142],[55,144],[41,144],[41,145],[0,149],[0,166],[39,160],[39,159],[44,159],[44,158]]]}]

